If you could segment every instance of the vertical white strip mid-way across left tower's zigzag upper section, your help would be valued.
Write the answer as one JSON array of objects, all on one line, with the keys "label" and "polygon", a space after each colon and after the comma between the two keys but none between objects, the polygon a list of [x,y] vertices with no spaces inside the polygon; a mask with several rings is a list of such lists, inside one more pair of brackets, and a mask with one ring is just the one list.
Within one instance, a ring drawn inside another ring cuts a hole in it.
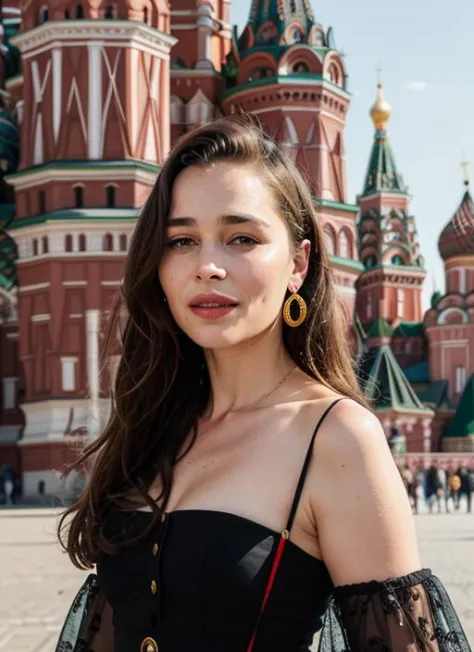
[{"label": "vertical white strip mid-way across left tower's zigzag upper section", "polygon": [[102,158],[102,43],[89,43],[89,158]]}]

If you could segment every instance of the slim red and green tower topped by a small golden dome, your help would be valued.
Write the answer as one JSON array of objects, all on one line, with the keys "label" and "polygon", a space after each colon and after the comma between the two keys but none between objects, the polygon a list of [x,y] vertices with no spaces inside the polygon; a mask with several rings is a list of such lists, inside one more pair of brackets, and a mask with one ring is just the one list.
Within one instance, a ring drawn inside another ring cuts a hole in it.
[{"label": "slim red and green tower topped by a small golden dome", "polygon": [[393,327],[401,322],[419,323],[426,273],[415,219],[409,213],[408,189],[387,138],[391,107],[380,83],[370,115],[375,135],[358,198],[359,257],[364,271],[356,283],[356,310],[364,324],[378,318]]}]

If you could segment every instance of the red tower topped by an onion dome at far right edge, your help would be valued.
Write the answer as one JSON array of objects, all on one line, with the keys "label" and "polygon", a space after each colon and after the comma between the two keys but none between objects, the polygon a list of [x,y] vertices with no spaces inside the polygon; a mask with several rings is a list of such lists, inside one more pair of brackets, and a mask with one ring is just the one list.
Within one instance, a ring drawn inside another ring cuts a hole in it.
[{"label": "red tower topped by an onion dome at far right edge", "polygon": [[431,380],[449,381],[455,405],[474,374],[474,202],[467,176],[464,185],[461,203],[438,241],[446,290],[433,296],[425,315]]}]

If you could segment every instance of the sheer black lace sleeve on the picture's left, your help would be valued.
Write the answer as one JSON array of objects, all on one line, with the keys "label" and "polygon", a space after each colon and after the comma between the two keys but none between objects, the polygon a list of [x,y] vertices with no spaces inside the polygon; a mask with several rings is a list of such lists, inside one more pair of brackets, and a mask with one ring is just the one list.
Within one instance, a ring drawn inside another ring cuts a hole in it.
[{"label": "sheer black lace sleeve on the picture's left", "polygon": [[55,652],[113,652],[112,609],[97,576],[91,574],[79,589],[64,621]]}]

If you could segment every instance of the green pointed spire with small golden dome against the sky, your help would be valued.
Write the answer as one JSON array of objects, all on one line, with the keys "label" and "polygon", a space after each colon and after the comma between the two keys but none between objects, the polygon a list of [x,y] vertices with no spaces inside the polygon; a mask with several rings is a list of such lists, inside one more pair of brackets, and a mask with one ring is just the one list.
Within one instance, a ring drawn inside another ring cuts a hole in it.
[{"label": "green pointed spire with small golden dome against the sky", "polygon": [[377,84],[377,99],[370,109],[375,136],[362,197],[376,192],[401,192],[404,194],[407,192],[387,139],[386,129],[391,114],[392,107],[385,101],[383,86],[379,82]]}]

